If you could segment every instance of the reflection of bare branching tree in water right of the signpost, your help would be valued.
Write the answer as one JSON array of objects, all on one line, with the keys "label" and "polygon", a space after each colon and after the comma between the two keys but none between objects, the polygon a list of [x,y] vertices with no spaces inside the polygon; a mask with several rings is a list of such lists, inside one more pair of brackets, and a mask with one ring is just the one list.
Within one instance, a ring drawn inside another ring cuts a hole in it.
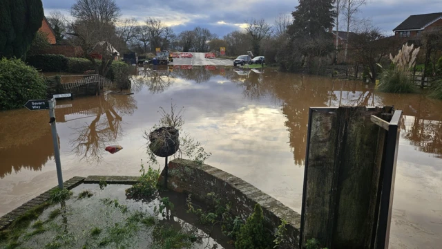
[{"label": "reflection of bare branching tree in water right of the signpost", "polygon": [[104,149],[108,145],[118,142],[124,135],[124,115],[132,115],[137,109],[135,99],[131,95],[106,95],[95,102],[93,108],[85,110],[80,114],[95,116],[91,122],[85,122],[79,127],[71,127],[75,138],[69,142],[73,153],[81,158],[80,160],[99,161]]}]

